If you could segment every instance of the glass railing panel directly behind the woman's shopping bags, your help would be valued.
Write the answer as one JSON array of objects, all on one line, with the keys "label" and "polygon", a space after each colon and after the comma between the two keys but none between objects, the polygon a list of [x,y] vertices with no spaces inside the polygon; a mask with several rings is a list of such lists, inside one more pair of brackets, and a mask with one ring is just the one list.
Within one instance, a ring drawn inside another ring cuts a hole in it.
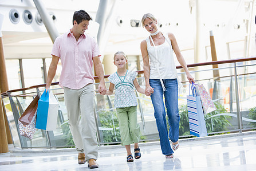
[{"label": "glass railing panel directly behind the woman's shopping bags", "polygon": [[[219,70],[214,71],[212,71],[211,66],[190,68],[191,74],[196,80],[195,83],[203,84],[217,108],[215,111],[204,115],[208,133],[238,129],[238,121],[235,117],[237,111],[234,100],[234,77],[231,76],[234,68],[230,68],[229,64],[219,64],[218,67]],[[182,75],[182,78],[185,76],[185,74]],[[186,87],[186,95],[184,99],[182,97],[179,99],[180,136],[190,135],[186,100],[186,96],[190,94],[189,83],[186,82],[184,87]]]}]

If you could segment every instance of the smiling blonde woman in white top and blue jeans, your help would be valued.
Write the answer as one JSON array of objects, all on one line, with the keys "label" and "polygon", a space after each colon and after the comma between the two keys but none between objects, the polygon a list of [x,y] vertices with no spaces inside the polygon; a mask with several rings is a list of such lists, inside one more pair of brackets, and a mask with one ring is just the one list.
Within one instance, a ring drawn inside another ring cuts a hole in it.
[{"label": "smiling blonde woman in white top and blue jeans", "polygon": [[[178,109],[178,75],[172,51],[175,52],[190,83],[194,82],[194,78],[188,71],[174,34],[160,32],[157,29],[156,18],[150,13],[143,15],[141,23],[150,33],[148,38],[140,44],[144,63],[145,95],[151,96],[162,153],[166,155],[166,158],[173,158],[173,150],[179,148],[180,117]],[[163,95],[165,97],[165,106]],[[168,139],[165,107],[167,108],[168,123],[170,125],[169,137],[172,141],[172,148]]]}]

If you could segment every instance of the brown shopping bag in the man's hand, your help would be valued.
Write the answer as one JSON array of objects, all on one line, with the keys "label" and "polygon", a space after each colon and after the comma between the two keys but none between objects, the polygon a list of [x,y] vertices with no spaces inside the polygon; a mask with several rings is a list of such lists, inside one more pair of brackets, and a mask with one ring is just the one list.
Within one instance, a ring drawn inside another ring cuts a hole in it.
[{"label": "brown shopping bag in the man's hand", "polygon": [[26,110],[22,113],[21,117],[19,117],[19,121],[23,125],[28,125],[31,123],[31,120],[33,119],[36,111],[37,111],[37,104],[38,104],[39,96],[37,95],[34,97],[34,99],[31,101],[29,106],[26,108]]}]

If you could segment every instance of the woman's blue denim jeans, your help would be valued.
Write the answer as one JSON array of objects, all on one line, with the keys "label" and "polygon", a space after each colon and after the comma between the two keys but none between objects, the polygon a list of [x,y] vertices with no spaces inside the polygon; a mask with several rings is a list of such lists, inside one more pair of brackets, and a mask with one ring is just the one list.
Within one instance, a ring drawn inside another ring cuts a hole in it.
[{"label": "woman's blue denim jeans", "polygon": [[[164,155],[174,153],[168,139],[168,130],[166,124],[166,109],[168,123],[170,125],[169,137],[172,142],[179,140],[179,108],[178,108],[178,82],[177,79],[163,79],[164,87],[167,91],[163,91],[160,79],[149,79],[149,84],[154,88],[151,95],[153,107],[155,109],[156,125],[160,137],[160,145]],[[163,101],[165,98],[165,106]],[[166,107],[166,109],[165,109]]]}]

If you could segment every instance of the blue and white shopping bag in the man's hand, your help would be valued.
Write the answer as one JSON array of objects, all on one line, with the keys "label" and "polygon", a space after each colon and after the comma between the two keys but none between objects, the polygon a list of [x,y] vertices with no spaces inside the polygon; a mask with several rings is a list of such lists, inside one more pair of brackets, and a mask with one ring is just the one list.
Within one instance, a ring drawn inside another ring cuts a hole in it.
[{"label": "blue and white shopping bag in the man's hand", "polygon": [[52,91],[42,93],[38,101],[36,128],[55,131],[57,126],[58,101]]}]

